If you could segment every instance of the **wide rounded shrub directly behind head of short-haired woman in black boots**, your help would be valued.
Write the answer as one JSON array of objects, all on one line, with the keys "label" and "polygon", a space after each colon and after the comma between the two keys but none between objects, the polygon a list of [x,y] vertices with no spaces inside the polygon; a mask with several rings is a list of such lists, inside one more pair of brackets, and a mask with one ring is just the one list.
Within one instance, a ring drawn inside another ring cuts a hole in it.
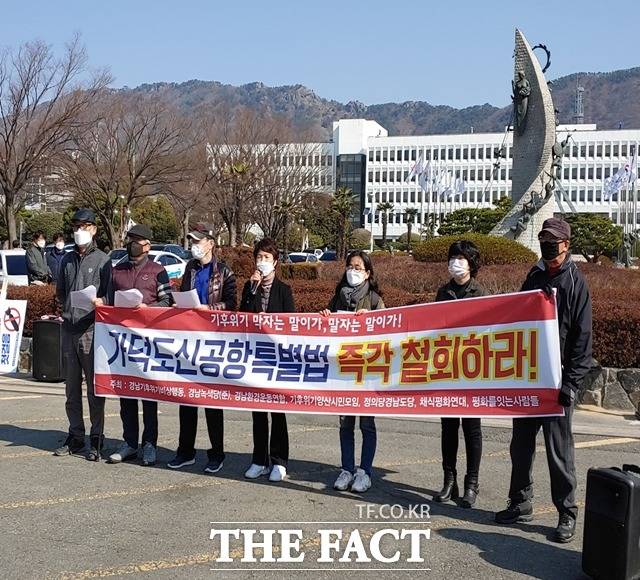
[{"label": "wide rounded shrub directly behind head of short-haired woman in black boots", "polygon": [[482,263],[486,265],[533,264],[538,259],[534,252],[515,240],[484,234],[431,238],[414,248],[413,257],[420,262],[446,262],[449,246],[460,239],[470,240],[478,246]]}]

